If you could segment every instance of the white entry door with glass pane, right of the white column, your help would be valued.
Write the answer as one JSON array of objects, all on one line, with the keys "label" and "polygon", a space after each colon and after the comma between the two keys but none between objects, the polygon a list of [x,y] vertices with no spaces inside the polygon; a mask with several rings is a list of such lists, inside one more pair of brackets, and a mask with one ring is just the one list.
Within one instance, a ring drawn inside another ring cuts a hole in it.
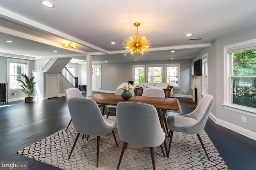
[{"label": "white entry door with glass pane, right of the white column", "polygon": [[92,66],[92,91],[100,92],[101,90],[101,65]]}]

